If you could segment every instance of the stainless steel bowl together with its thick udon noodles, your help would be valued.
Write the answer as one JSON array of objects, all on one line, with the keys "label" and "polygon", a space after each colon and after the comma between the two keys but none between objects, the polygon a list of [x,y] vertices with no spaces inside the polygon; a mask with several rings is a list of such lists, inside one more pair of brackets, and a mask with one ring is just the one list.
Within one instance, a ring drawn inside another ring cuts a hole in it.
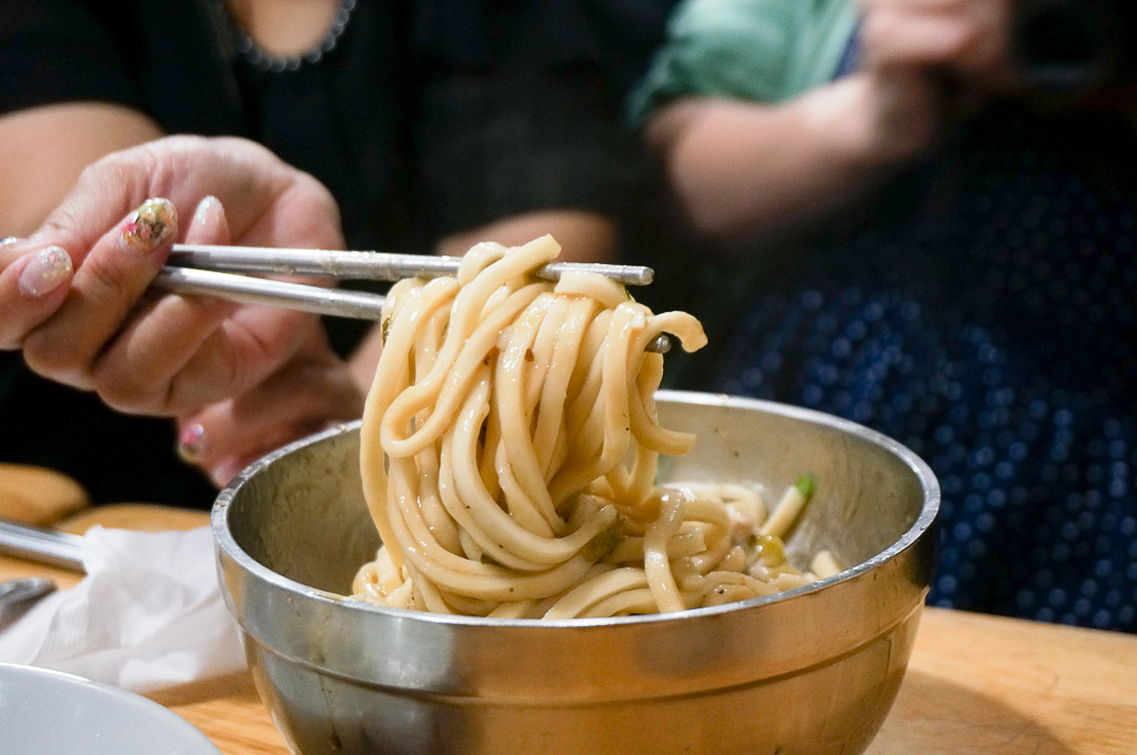
[{"label": "stainless steel bowl together with its thick udon noodles", "polygon": [[863,752],[930,582],[931,471],[829,415],[658,391],[652,345],[697,348],[697,323],[540,280],[555,254],[397,284],[363,420],[219,495],[223,592],[285,741]]}]

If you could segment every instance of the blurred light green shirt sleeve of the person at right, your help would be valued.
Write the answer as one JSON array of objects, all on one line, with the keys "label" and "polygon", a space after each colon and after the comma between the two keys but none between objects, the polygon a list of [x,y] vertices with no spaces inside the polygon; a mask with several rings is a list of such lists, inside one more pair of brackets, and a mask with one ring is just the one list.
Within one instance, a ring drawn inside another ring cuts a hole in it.
[{"label": "blurred light green shirt sleeve of the person at right", "polygon": [[854,0],[684,0],[632,94],[640,126],[680,97],[778,103],[832,80],[857,20]]}]

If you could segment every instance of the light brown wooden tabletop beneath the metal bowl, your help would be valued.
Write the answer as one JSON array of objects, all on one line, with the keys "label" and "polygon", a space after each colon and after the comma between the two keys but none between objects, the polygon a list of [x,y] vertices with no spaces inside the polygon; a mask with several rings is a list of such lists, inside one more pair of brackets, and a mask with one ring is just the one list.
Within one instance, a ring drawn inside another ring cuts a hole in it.
[{"label": "light brown wooden tabletop beneath the metal bowl", "polygon": [[[156,529],[204,514],[89,509],[63,524]],[[0,557],[0,580],[77,574]],[[155,695],[225,755],[287,755],[248,674]],[[928,609],[899,696],[869,755],[1137,754],[1137,637]]]}]

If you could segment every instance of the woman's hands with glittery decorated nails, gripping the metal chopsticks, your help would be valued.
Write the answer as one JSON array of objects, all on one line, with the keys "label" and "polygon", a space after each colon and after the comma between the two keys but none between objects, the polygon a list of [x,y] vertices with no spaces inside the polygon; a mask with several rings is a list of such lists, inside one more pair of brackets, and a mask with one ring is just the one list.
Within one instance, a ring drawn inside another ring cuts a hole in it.
[{"label": "woman's hands with glittery decorated nails, gripping the metal chopsticks", "polygon": [[[360,391],[315,316],[150,291],[175,241],[342,247],[331,194],[264,148],[160,139],[92,164],[34,234],[0,247],[0,348],[126,413],[263,413],[256,438],[210,433],[226,457],[289,440],[284,425],[357,416]],[[305,412],[271,399],[315,372],[343,395]]]}]

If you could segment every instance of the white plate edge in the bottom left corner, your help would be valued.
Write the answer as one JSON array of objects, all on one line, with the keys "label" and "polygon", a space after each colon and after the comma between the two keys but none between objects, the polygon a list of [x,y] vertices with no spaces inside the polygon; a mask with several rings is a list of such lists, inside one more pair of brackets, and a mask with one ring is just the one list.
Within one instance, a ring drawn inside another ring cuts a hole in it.
[{"label": "white plate edge in the bottom left corner", "polygon": [[185,719],[82,677],[0,663],[5,755],[221,755]]}]

